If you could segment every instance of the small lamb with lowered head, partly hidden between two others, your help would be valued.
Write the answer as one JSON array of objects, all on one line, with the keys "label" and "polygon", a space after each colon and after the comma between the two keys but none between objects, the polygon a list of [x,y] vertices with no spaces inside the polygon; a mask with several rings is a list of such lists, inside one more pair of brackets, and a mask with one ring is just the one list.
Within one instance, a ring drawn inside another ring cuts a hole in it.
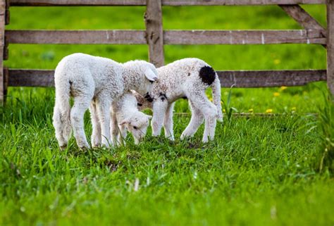
[{"label": "small lamb with lowered head, partly hidden between two others", "polygon": [[128,131],[135,139],[135,144],[139,144],[146,135],[151,118],[151,115],[146,115],[138,110],[135,96],[130,93],[121,96],[113,103],[111,111],[110,128],[113,144],[122,144]]}]

